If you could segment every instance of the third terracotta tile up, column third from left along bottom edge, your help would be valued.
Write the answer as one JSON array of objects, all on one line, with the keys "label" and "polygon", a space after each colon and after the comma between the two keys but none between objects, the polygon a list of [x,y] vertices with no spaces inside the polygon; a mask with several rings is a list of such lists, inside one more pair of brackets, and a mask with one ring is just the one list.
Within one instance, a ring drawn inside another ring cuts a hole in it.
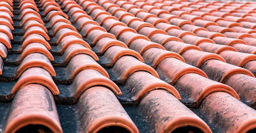
[{"label": "third terracotta tile up, column third from left along bottom edge", "polygon": [[[122,56],[120,57],[112,68],[107,70],[112,72],[110,79],[116,84],[124,84],[126,79],[134,72],[145,71],[154,75],[154,77],[159,78],[157,72],[150,66],[142,63],[132,56]],[[115,76],[114,76],[115,75]]]}]

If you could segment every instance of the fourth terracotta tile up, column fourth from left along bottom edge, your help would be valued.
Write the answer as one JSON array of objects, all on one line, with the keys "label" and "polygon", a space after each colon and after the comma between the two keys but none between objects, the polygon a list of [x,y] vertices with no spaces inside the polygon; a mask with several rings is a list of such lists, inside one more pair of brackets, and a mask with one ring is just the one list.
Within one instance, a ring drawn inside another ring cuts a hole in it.
[{"label": "fourth terracotta tile up, column fourth from left along bottom edge", "polygon": [[157,65],[165,58],[176,58],[180,61],[185,62],[185,60],[175,52],[166,51],[158,48],[150,48],[143,54],[143,59],[145,64],[153,67],[154,69]]}]

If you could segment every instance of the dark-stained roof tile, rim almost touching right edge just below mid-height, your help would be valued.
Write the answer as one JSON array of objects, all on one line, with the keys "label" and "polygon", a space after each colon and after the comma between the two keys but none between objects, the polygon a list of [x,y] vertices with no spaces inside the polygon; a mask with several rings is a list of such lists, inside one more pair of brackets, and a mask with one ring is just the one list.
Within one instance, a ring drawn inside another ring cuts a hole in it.
[{"label": "dark-stained roof tile, rim almost touching right edge just below mid-height", "polygon": [[209,79],[221,83],[224,83],[227,78],[234,74],[244,74],[254,77],[254,75],[247,69],[236,67],[218,60],[205,61],[204,64],[201,65],[200,69],[202,69],[209,76]]}]

